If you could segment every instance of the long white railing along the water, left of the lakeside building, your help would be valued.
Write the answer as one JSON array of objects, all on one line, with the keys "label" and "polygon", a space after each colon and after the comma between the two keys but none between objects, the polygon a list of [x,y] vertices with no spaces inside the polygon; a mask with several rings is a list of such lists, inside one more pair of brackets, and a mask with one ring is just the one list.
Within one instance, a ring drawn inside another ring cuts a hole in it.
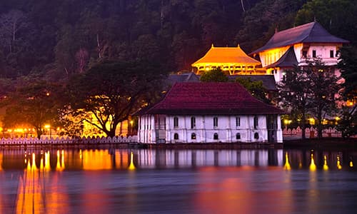
[{"label": "long white railing along the water, left of the lakeside building", "polygon": [[76,144],[109,144],[109,143],[134,143],[138,141],[137,136],[128,137],[102,137],[102,138],[1,138],[0,146],[6,145],[76,145]]}]

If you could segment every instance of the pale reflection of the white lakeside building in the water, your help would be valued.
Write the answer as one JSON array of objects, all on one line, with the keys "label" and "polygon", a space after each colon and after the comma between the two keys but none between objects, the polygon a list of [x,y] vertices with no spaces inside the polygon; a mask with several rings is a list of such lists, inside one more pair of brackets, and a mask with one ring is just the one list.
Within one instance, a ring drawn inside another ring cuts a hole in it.
[{"label": "pale reflection of the white lakeside building in the water", "polygon": [[137,155],[139,168],[283,165],[283,150],[139,150]]}]

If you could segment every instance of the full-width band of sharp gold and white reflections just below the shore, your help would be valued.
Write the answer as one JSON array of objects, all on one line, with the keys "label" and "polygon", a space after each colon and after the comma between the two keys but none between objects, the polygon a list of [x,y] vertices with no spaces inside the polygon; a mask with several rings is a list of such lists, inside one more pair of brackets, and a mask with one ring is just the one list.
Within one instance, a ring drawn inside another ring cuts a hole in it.
[{"label": "full-width band of sharp gold and white reflections just below the shore", "polygon": [[[284,155],[283,155],[284,154]],[[0,151],[0,171],[135,170],[149,168],[200,168],[208,166],[282,166],[285,170],[341,170],[353,168],[356,152],[310,150],[49,150]]]}]

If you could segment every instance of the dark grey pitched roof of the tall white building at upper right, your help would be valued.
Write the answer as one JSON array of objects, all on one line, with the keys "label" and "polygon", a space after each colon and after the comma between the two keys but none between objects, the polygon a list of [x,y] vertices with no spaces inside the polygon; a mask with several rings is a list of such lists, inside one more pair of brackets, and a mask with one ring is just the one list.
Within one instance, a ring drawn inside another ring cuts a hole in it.
[{"label": "dark grey pitched roof of the tall white building at upper right", "polygon": [[291,46],[298,43],[333,43],[344,44],[349,41],[333,36],[326,29],[313,21],[308,24],[286,29],[285,31],[276,32],[271,39],[260,49],[253,51],[251,54],[257,54],[268,49],[275,49],[283,46]]}]

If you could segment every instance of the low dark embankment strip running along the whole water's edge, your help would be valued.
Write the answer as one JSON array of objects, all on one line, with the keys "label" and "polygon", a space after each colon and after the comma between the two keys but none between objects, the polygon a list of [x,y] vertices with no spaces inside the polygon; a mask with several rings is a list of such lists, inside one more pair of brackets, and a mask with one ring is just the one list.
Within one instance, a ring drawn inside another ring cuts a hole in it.
[{"label": "low dark embankment strip running along the whole water's edge", "polygon": [[6,144],[0,149],[101,149],[101,148],[153,148],[153,149],[346,149],[357,150],[357,138],[306,138],[285,140],[283,143],[44,143],[44,144]]}]

